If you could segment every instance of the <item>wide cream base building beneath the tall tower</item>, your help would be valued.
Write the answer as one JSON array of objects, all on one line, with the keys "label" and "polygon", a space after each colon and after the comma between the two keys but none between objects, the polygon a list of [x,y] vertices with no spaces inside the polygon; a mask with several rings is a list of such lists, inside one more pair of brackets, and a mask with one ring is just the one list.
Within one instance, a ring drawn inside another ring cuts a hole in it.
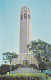
[{"label": "wide cream base building beneath the tall tower", "polygon": [[36,66],[38,66],[38,61],[33,54],[23,53],[19,54],[17,59],[13,59],[12,64],[14,65],[21,64],[23,66],[29,66],[30,64],[35,64]]}]

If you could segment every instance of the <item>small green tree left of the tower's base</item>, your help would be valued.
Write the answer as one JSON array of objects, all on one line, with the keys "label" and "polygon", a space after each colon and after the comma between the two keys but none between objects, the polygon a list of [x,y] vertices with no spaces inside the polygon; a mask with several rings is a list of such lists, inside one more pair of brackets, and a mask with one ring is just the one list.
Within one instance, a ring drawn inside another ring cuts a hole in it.
[{"label": "small green tree left of the tower's base", "polygon": [[15,52],[3,53],[3,60],[4,60],[4,62],[5,63],[10,62],[10,65],[11,65],[12,59],[13,58],[17,58],[17,57],[18,57],[18,55]]}]

